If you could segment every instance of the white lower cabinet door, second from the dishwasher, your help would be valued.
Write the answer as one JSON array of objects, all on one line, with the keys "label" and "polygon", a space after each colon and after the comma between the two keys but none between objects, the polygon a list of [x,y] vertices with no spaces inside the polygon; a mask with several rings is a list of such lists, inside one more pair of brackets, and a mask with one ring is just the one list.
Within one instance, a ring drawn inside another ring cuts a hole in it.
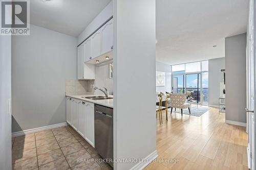
[{"label": "white lower cabinet door, second from the dishwasher", "polygon": [[78,133],[84,138],[86,133],[86,105],[85,102],[79,104],[78,112]]}]

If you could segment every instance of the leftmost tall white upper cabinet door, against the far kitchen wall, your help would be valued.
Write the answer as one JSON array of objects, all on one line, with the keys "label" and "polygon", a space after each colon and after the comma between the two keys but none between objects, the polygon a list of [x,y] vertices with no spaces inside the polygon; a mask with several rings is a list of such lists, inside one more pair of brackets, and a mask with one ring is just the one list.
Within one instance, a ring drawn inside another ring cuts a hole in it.
[{"label": "leftmost tall white upper cabinet door, against the far kitchen wall", "polygon": [[84,79],[83,77],[84,65],[84,45],[81,44],[77,47],[77,79]]}]

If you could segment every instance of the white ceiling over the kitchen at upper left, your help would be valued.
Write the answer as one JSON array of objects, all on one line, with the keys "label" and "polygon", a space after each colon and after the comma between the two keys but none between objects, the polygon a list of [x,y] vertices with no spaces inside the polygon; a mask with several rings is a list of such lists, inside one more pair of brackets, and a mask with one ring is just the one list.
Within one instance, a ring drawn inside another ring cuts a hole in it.
[{"label": "white ceiling over the kitchen at upper left", "polygon": [[32,0],[33,25],[77,37],[111,0]]}]

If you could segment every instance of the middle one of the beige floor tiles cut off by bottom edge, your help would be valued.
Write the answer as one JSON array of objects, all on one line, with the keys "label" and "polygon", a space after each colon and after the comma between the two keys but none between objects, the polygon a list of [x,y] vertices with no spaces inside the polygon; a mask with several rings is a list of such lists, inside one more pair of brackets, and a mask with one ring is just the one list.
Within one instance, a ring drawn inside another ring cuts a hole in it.
[{"label": "middle one of the beige floor tiles cut off by bottom edge", "polygon": [[45,165],[39,166],[39,170],[66,170],[69,168],[69,164],[64,157],[47,163]]}]

